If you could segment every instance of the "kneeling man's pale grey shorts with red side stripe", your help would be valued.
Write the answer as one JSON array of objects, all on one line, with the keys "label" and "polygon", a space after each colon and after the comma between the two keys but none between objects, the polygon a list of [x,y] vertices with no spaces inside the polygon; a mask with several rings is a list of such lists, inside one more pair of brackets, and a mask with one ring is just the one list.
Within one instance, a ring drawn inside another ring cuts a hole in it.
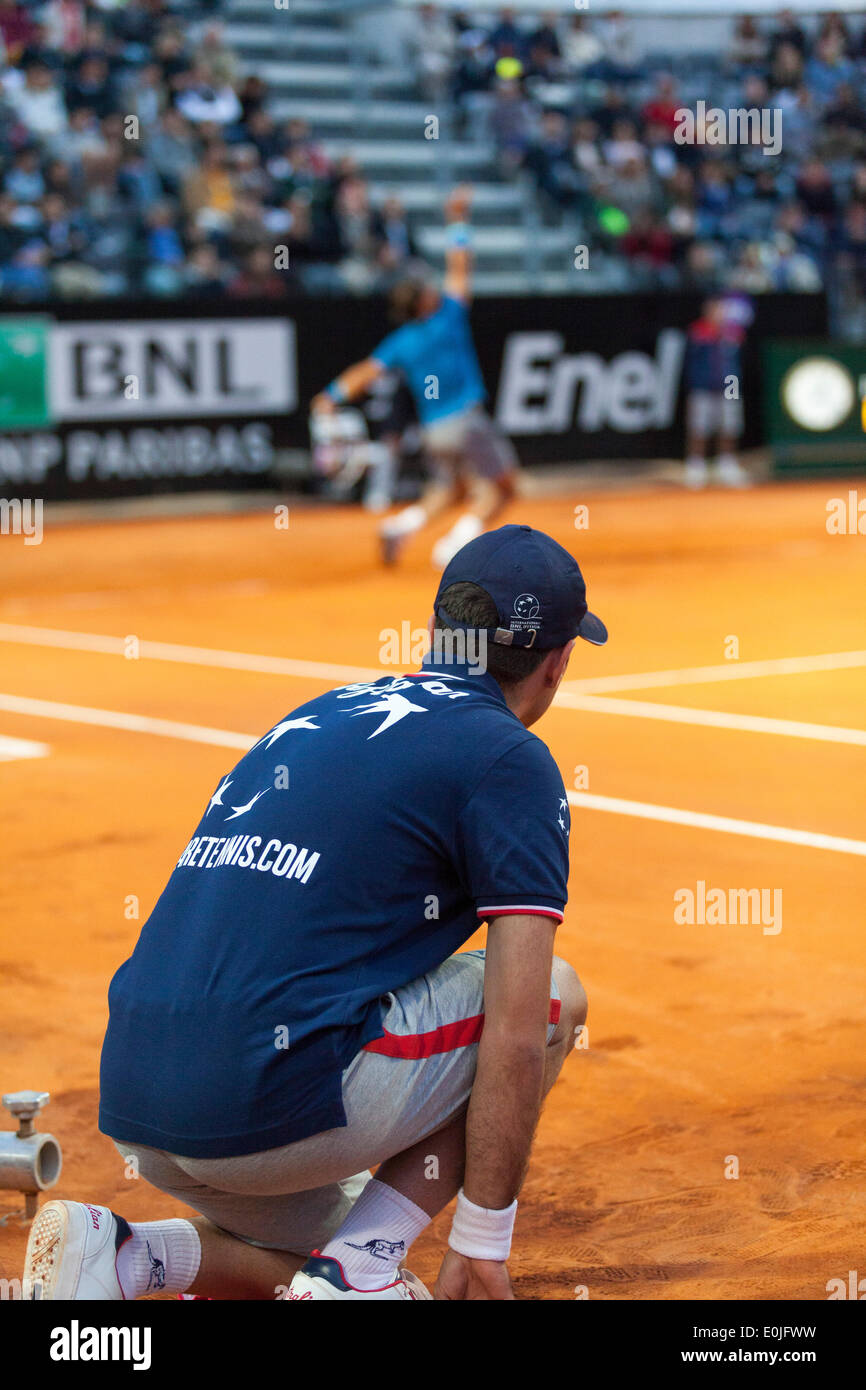
[{"label": "kneeling man's pale grey shorts with red side stripe", "polygon": [[[550,977],[548,1042],[559,1022],[562,962]],[[240,1158],[182,1158],[117,1140],[139,1175],[252,1245],[307,1255],[345,1220],[368,1169],[459,1115],[484,1026],[484,951],[464,951],[382,997],[385,1034],[343,1072],[346,1126]],[[231,1108],[231,1095],[225,1097]],[[435,1151],[435,1144],[431,1152]]]}]

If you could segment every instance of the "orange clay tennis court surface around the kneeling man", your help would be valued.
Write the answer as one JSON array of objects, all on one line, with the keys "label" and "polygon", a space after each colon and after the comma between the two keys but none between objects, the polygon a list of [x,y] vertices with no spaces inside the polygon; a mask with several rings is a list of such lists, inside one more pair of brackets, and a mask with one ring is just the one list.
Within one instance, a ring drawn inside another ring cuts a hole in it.
[{"label": "orange clay tennis court surface around the kneeling man", "polygon": [[[823,1300],[863,1266],[866,564],[862,538],[826,530],[845,486],[563,495],[505,518],[574,549],[610,628],[537,727],[569,788],[587,770],[556,949],[587,986],[589,1045],[542,1116],[518,1298]],[[374,520],[304,506],[288,530],[270,510],[49,512],[40,546],[3,542],[0,1088],[51,1093],[50,1195],[183,1212],[96,1130],[108,980],[240,749],[377,669],[384,628],[425,624],[430,543],[382,570]],[[781,931],[676,923],[698,881],[781,890]],[[6,1277],[21,1204],[0,1193]],[[448,1222],[413,1248],[427,1282]]]}]

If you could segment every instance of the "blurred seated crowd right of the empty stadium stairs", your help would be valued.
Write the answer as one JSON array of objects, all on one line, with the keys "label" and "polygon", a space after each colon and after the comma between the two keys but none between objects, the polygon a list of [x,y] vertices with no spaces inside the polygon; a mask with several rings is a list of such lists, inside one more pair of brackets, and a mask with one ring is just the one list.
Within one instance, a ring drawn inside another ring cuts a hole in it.
[{"label": "blurred seated crowd right of the empty stadium stairs", "polygon": [[[631,286],[831,284],[863,297],[865,22],[741,17],[726,51],[677,64],[644,54],[616,11],[503,10],[482,29],[425,6],[417,50],[420,79],[448,86],[461,128],[487,128],[503,174],[532,178],[549,221],[577,214],[588,245],[624,259]],[[698,100],[708,118],[780,113],[780,153],[763,136],[678,143],[677,113]]]}]

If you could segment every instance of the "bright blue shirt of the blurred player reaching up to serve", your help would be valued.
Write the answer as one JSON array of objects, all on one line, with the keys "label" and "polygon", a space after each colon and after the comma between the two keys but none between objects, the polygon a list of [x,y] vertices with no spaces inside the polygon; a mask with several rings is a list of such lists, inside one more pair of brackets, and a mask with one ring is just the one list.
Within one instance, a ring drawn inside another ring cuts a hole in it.
[{"label": "bright blue shirt of the blurred player reaching up to serve", "polygon": [[403,324],[370,356],[403,371],[423,425],[481,404],[487,395],[467,307],[450,295],[435,314]]}]

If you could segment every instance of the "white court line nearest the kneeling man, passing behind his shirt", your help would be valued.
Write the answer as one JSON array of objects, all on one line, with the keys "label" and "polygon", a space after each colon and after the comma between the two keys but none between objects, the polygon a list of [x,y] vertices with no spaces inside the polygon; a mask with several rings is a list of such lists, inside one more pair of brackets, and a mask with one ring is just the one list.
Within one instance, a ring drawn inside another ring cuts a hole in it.
[{"label": "white court line nearest the kneeling man, passing behind his shirt", "polygon": [[[235,734],[227,728],[178,724],[168,719],[125,714],[111,709],[88,709],[83,705],[58,705],[54,701],[28,699],[22,695],[0,695],[0,710],[10,714],[33,714],[39,719],[95,724],[99,728],[122,728],[135,734],[160,734],[164,738],[183,738],[193,744],[213,744],[218,748],[246,751],[256,741],[254,734]],[[570,791],[566,795],[571,806],[581,806],[585,810],[609,810],[620,816],[637,816],[641,820],[662,820],[674,826],[720,830],[728,835],[751,835],[753,840],[777,840],[781,844],[808,845],[812,849],[866,855],[866,841],[845,840],[841,835],[820,835],[812,830],[788,830],[785,826],[763,826],[755,820],[731,820],[728,816],[709,816],[701,810],[678,810],[676,806],[653,806],[644,801],[596,796],[591,792]]]}]

